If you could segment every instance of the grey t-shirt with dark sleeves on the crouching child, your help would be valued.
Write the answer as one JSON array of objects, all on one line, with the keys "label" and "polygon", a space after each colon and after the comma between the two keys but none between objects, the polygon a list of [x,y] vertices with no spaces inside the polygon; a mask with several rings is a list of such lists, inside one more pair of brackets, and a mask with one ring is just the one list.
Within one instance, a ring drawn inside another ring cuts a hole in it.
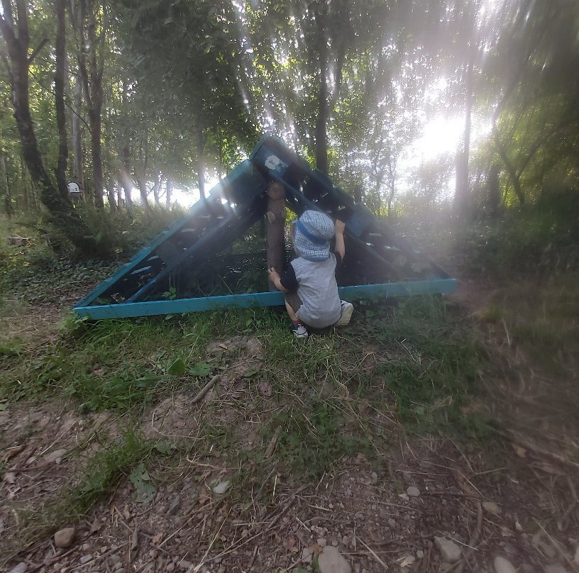
[{"label": "grey t-shirt with dark sleeves on the crouching child", "polygon": [[[292,269],[282,277],[282,285],[302,300],[296,316],[314,328],[335,324],[341,316],[341,302],[336,284],[336,265],[341,257],[330,254],[325,261],[309,261],[302,257],[292,260]],[[293,270],[293,273],[292,273]],[[292,275],[295,275],[295,278]],[[297,287],[297,288],[296,288]]]}]

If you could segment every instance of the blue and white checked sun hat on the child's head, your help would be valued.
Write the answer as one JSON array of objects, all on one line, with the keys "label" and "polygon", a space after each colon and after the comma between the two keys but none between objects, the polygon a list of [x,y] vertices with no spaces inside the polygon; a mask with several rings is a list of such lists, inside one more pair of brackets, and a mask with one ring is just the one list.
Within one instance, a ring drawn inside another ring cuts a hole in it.
[{"label": "blue and white checked sun hat on the child's head", "polygon": [[333,221],[321,211],[304,211],[293,221],[294,249],[309,261],[325,261],[330,257],[330,240],[335,230]]}]

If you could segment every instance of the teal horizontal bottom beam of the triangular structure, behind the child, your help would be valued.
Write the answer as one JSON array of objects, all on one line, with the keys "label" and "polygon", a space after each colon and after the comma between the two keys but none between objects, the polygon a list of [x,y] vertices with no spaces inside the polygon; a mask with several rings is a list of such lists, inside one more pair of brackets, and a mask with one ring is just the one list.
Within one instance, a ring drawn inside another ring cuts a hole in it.
[{"label": "teal horizontal bottom beam of the triangular structure, behind the child", "polygon": [[[456,279],[432,279],[427,281],[390,282],[384,284],[360,284],[340,287],[343,299],[387,299],[415,294],[450,294],[456,289]],[[251,294],[227,294],[224,296],[204,296],[197,299],[177,299],[174,301],[148,301],[95,306],[75,306],[79,316],[94,320],[104,318],[134,318],[162,314],[214,311],[219,308],[251,308],[255,306],[282,306],[281,292],[256,292]]]}]

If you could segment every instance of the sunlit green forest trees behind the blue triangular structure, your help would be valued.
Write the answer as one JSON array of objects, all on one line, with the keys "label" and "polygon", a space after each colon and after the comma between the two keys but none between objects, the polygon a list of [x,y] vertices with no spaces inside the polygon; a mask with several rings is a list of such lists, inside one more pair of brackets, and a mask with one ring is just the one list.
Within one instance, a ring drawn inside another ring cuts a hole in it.
[{"label": "sunlit green forest trees behind the blue triangular structure", "polygon": [[573,0],[2,0],[0,29],[2,207],[80,252],[118,257],[264,132],[382,216],[523,209],[573,243]]}]

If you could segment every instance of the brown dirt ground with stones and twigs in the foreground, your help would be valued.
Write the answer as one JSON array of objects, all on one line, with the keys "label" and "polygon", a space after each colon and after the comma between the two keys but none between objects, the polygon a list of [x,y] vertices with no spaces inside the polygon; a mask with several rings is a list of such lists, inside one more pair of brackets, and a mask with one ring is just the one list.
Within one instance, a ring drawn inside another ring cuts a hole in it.
[{"label": "brown dirt ground with stones and twigs in the foreground", "polygon": [[[474,317],[493,294],[465,280],[453,296],[465,316]],[[61,311],[36,311],[34,321],[24,313],[9,328],[54,344]],[[481,380],[487,399],[477,407],[500,421],[502,450],[400,432],[379,464],[352,455],[317,483],[294,483],[273,472],[253,484],[249,500],[239,501],[227,494],[228,478],[239,468],[228,467],[216,443],[202,458],[180,453],[168,467],[149,467],[156,491],[148,503],[136,499],[135,486],[123,479],[86,519],[70,523],[70,545],[56,547],[50,538],[17,555],[11,554],[13,535],[26,528],[26,514],[15,510],[38,507],[60,491],[98,449],[94,436],[114,440],[119,421],[111,414],[80,414],[64,403],[20,403],[0,411],[4,570],[578,571],[579,467],[573,460],[579,459],[579,416],[559,415],[557,400],[564,396],[556,398],[553,385],[517,356],[502,338],[508,333],[488,335],[497,340],[504,377]],[[250,347],[251,339],[243,344]],[[216,397],[209,394],[211,399]],[[195,438],[195,407],[192,396],[172,396],[145,413],[141,429],[167,440]],[[262,440],[251,431],[252,416],[248,408],[232,420],[249,448]]]}]

